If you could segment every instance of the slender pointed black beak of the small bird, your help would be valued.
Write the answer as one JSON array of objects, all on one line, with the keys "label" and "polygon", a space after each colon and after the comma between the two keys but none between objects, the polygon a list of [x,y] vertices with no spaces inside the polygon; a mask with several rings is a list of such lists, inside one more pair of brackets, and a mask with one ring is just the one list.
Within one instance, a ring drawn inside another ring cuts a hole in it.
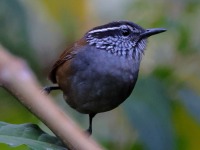
[{"label": "slender pointed black beak of the small bird", "polygon": [[146,29],[143,33],[140,34],[140,38],[148,38],[152,35],[158,34],[158,33],[162,33],[167,31],[164,28],[153,28],[153,29]]}]

